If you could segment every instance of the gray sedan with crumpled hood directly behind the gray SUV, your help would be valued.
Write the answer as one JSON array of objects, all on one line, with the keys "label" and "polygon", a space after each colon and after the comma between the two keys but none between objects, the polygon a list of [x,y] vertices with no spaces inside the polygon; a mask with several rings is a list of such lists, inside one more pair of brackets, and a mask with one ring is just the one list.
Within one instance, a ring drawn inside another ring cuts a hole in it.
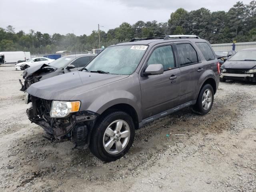
[{"label": "gray sedan with crumpled hood directly behind the gray SUV", "polygon": [[60,74],[82,69],[90,62],[96,54],[76,54],[61,57],[50,64],[35,64],[24,70],[22,76],[24,84],[20,80],[22,88],[25,91],[31,84]]}]

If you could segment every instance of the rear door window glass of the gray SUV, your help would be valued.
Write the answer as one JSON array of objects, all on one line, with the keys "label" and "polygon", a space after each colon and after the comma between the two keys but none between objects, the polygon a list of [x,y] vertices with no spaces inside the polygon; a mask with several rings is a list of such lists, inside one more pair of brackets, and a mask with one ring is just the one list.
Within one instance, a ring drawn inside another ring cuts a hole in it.
[{"label": "rear door window glass of the gray SUV", "polygon": [[180,66],[198,62],[196,50],[189,43],[176,44]]}]

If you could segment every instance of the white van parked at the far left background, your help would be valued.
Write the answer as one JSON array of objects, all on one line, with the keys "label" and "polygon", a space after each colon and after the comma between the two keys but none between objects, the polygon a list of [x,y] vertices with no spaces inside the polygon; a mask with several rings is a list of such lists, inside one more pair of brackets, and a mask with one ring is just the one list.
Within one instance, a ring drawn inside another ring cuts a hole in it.
[{"label": "white van parked at the far left background", "polygon": [[16,64],[18,61],[22,62],[22,61],[26,61],[27,59],[30,59],[30,52],[23,52],[23,51],[0,52],[0,65]]}]

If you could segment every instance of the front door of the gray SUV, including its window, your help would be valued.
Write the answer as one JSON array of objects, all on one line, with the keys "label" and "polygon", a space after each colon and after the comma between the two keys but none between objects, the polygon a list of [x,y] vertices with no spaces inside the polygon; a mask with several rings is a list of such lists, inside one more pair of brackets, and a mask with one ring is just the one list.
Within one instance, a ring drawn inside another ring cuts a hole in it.
[{"label": "front door of the gray SUV, including its window", "polygon": [[139,76],[142,95],[142,118],[164,112],[178,105],[180,69],[176,68],[172,44],[153,47],[146,66],[162,64],[164,73]]}]

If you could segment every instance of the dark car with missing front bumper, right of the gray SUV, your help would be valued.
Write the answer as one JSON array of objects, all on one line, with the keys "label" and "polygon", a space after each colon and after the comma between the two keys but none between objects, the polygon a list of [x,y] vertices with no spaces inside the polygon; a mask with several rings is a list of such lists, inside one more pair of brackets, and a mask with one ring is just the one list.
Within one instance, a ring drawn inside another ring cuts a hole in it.
[{"label": "dark car with missing front bumper, right of the gray SUV", "polygon": [[220,81],[256,82],[256,48],[243,49],[221,66]]}]

